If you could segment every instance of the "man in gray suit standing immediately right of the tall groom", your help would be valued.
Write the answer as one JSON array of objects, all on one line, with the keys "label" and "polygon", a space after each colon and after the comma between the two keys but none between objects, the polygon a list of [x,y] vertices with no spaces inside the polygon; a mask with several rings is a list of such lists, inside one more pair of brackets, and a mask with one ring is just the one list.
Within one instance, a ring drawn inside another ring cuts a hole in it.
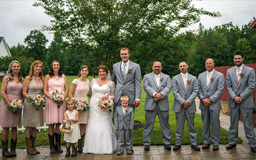
[{"label": "man in gray suit standing immediately right of the tall groom", "polygon": [[151,135],[158,115],[162,130],[165,149],[170,150],[170,126],[169,126],[169,102],[168,94],[172,90],[169,75],[161,72],[162,65],[155,62],[152,66],[153,72],[144,75],[143,88],[146,92],[144,105],[146,124],[143,130],[144,150],[150,149]]}]

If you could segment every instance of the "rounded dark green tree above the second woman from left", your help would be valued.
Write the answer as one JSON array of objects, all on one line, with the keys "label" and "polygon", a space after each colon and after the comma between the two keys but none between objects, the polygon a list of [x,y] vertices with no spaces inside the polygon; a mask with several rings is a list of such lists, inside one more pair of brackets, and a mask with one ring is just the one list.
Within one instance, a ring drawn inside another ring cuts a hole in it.
[{"label": "rounded dark green tree above the second woman from left", "polygon": [[33,30],[25,38],[25,44],[27,44],[28,52],[25,55],[28,58],[33,58],[34,60],[40,60],[42,62],[46,61],[46,43],[48,39],[39,30]]}]

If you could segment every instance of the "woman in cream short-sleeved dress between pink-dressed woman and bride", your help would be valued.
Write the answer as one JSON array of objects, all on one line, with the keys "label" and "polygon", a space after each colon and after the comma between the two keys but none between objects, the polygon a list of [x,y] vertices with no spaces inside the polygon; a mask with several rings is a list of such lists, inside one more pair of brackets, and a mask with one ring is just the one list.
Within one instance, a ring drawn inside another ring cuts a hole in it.
[{"label": "woman in cream short-sleeved dress between pink-dressed woman and bride", "polygon": [[[89,93],[90,90],[90,81],[86,79],[88,76],[89,70],[87,65],[82,65],[79,69],[79,78],[74,79],[72,81],[70,91],[69,91],[69,98],[74,98],[75,100],[82,100],[86,101],[89,104],[88,97],[91,96]],[[89,94],[89,95],[88,95]],[[85,131],[86,131],[86,124],[88,122],[88,112],[79,111],[79,121],[80,124],[80,135],[81,139],[78,140],[78,152],[82,152],[82,142],[84,139]]]}]

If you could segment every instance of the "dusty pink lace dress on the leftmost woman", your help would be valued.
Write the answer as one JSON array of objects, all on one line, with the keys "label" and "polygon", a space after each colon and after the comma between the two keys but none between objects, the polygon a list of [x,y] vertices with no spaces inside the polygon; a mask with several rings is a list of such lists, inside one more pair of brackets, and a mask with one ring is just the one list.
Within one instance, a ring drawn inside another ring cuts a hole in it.
[{"label": "dusty pink lace dress on the leftmost woman", "polygon": [[[23,84],[16,82],[8,81],[6,88],[6,95],[10,101],[14,99],[22,98],[22,87]],[[7,105],[5,101],[1,100],[0,102],[0,126],[2,127],[18,127],[20,126],[20,120],[22,119],[22,110],[17,112],[16,114],[12,113],[12,111],[7,110]]]}]

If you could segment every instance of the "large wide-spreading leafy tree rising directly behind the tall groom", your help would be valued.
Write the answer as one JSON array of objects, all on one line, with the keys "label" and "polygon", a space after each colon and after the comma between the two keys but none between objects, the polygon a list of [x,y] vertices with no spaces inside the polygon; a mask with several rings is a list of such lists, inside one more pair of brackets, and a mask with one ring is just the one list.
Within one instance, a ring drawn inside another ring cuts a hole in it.
[{"label": "large wide-spreading leafy tree rising directly behind the tall groom", "polygon": [[191,0],[40,0],[34,6],[44,8],[53,18],[51,26],[44,26],[44,30],[57,31],[73,47],[81,48],[93,72],[95,60],[112,71],[124,46],[130,48],[131,60],[139,63],[143,71],[181,28],[198,22],[202,14],[220,16],[190,3]]}]

